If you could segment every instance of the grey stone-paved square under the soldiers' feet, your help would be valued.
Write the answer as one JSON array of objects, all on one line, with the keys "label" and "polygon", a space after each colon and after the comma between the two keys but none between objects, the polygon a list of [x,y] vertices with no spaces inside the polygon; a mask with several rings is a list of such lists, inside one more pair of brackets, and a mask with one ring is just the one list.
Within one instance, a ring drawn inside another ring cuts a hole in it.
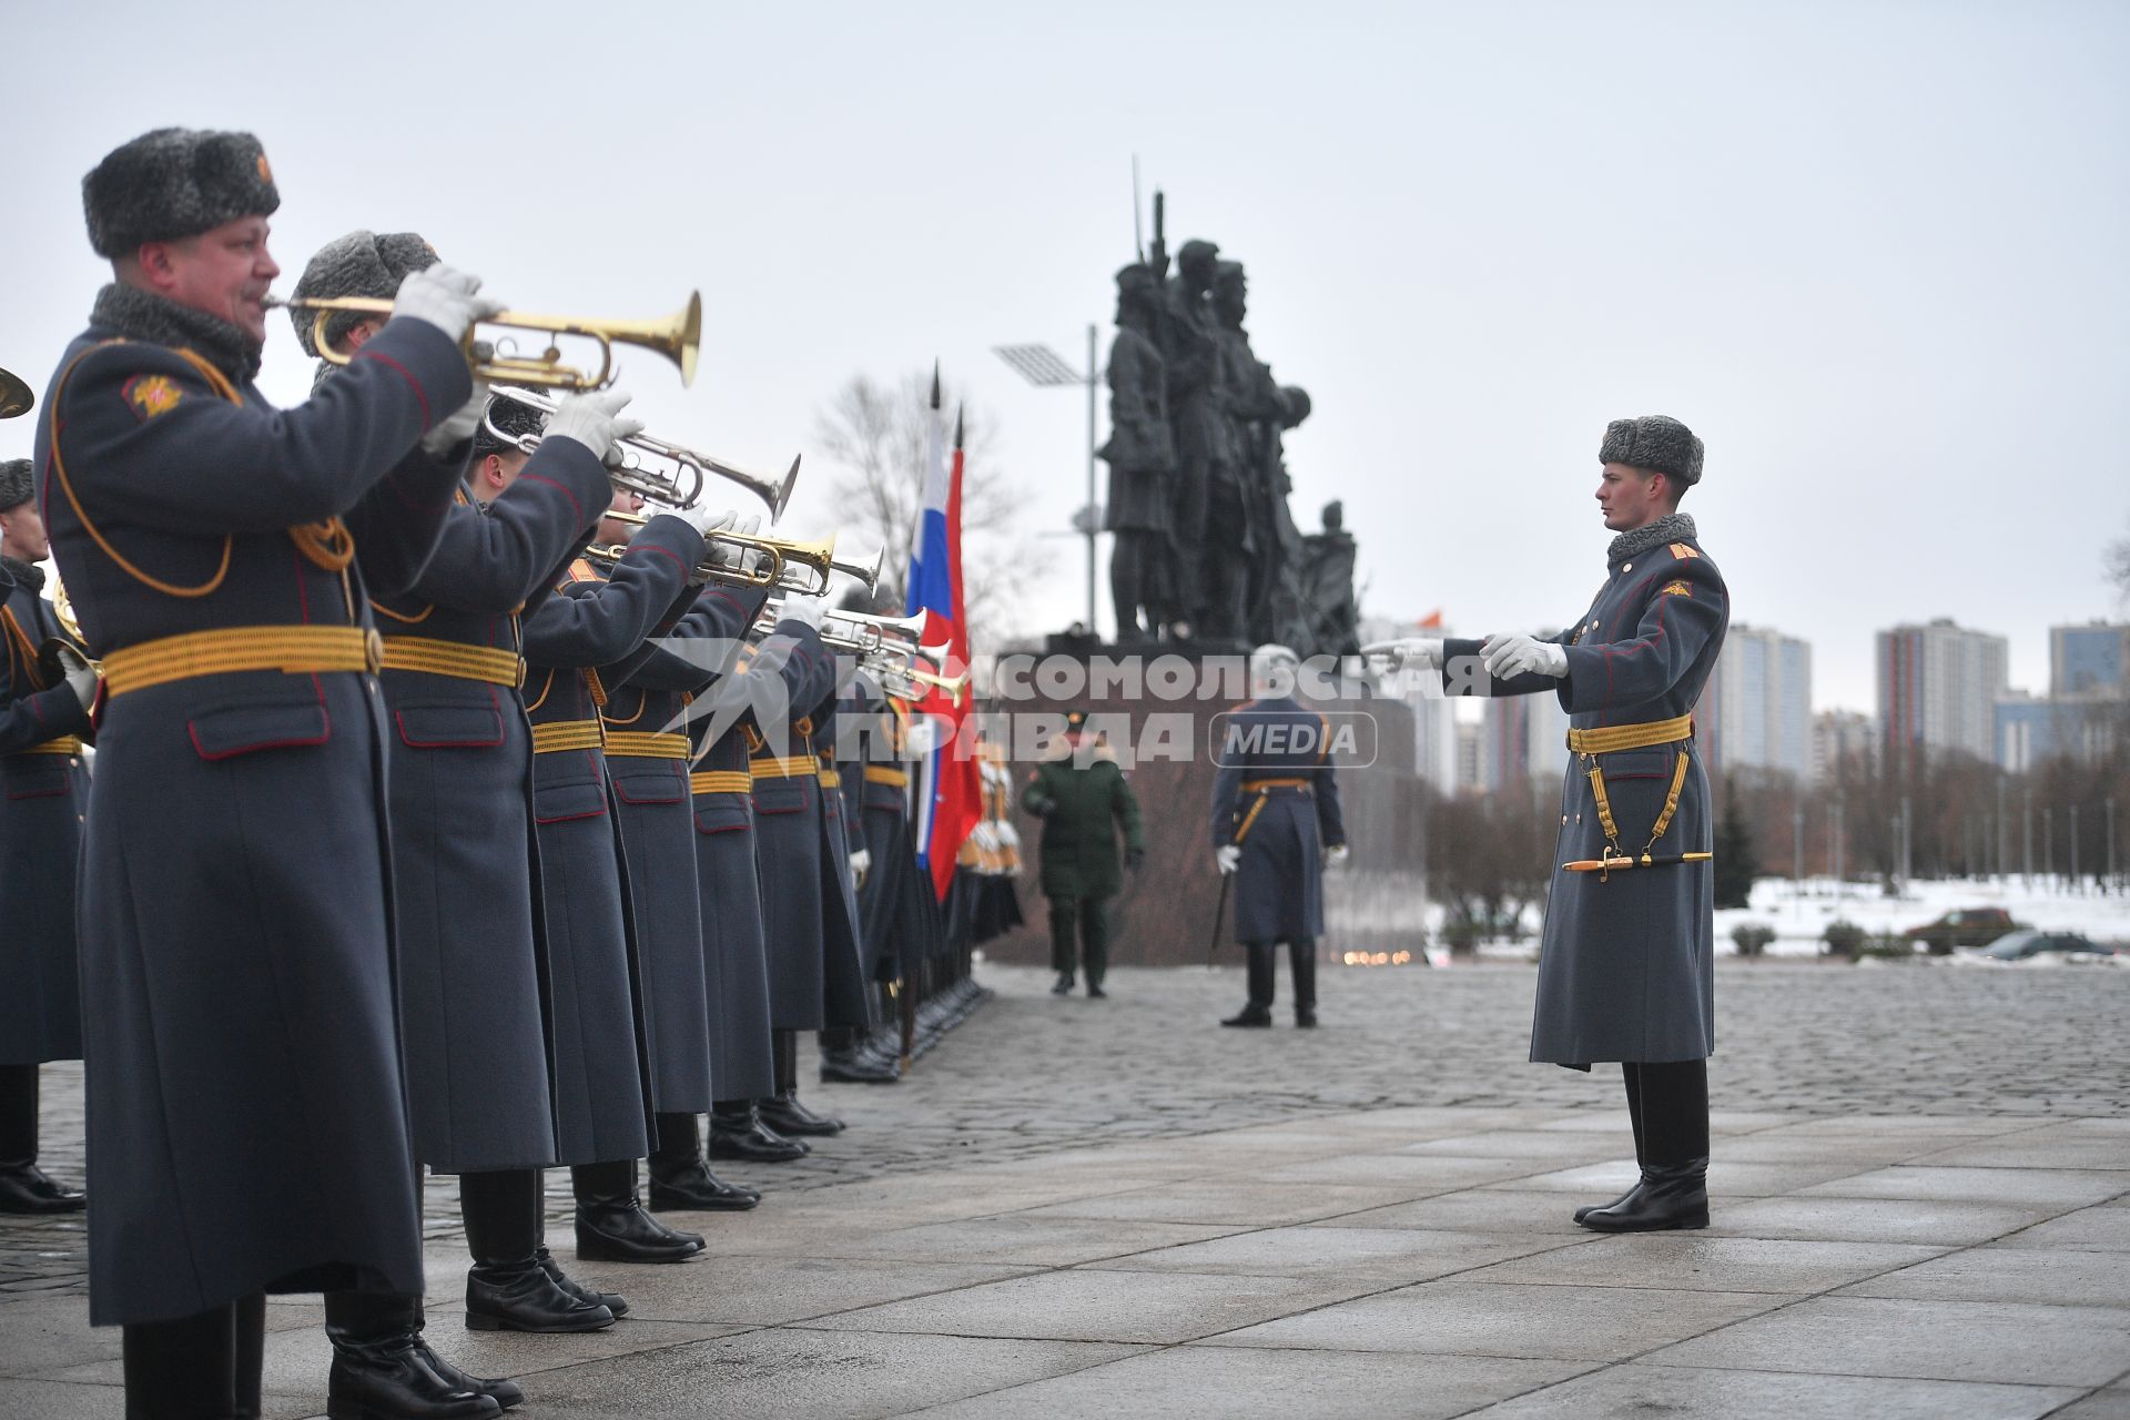
[{"label": "grey stone-paved square under the soldiers' feet", "polygon": [[[596,1337],[462,1331],[435,1179],[432,1333],[543,1416],[2130,1418],[2130,973],[1723,962],[1717,1226],[1666,1239],[1568,1224],[1629,1147],[1615,1073],[1523,1062],[1529,967],[1323,975],[1301,1033],[1218,1028],[1231,967],[990,967],[901,1086],[805,1090],[852,1128],[733,1169],[756,1213],[684,1216],[705,1262],[581,1267],[635,1303]],[[79,1111],[47,1067],[68,1179]],[[0,1418],[121,1411],[81,1239],[0,1220]],[[315,1301],[271,1316],[313,1416]]]}]

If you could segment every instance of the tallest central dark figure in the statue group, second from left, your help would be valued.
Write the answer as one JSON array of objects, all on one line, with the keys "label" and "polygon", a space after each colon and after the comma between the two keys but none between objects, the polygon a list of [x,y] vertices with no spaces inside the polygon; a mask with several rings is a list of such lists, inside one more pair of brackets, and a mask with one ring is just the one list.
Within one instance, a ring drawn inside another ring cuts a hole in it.
[{"label": "tallest central dark figure in the statue group, second from left", "polygon": [[1169,539],[1176,545],[1176,602],[1199,632],[1208,541],[1206,498],[1214,466],[1229,458],[1227,417],[1220,409],[1220,349],[1212,317],[1212,281],[1220,249],[1186,241],[1176,253],[1161,313],[1161,356],[1169,381],[1169,430],[1176,445]]}]

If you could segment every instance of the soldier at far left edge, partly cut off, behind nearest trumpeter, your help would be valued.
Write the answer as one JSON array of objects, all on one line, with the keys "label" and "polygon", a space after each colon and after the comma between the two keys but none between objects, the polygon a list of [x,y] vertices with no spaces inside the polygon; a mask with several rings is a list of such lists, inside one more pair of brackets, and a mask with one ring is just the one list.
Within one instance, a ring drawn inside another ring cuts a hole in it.
[{"label": "soldier at far left edge, partly cut off, behind nearest trumpeter", "polygon": [[89,775],[96,671],[45,651],[60,643],[40,596],[51,556],[30,460],[0,462],[0,1213],[72,1213],[79,1188],[36,1167],[36,1067],[81,1058],[75,862]]}]

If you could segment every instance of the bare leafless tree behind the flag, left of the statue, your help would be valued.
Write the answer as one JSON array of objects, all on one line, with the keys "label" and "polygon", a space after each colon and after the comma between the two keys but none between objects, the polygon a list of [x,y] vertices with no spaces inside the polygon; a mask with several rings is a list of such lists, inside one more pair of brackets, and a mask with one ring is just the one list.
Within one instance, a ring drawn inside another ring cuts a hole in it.
[{"label": "bare leafless tree behind the flag, left of the statue", "polygon": [[[852,375],[814,419],[814,443],[837,466],[843,526],[888,549],[875,600],[897,609],[907,598],[910,547],[924,507],[931,381],[931,370],[895,385]],[[961,583],[969,637],[990,641],[1048,571],[1048,549],[1018,528],[1020,502],[993,458],[990,413],[952,385],[941,385],[939,402],[950,456],[956,413],[963,419]]]}]

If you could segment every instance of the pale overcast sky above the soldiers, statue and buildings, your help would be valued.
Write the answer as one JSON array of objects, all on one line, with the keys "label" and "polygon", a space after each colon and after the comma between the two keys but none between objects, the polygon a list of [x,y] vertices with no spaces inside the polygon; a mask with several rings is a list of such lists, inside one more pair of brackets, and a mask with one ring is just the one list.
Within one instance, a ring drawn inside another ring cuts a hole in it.
[{"label": "pale overcast sky above the soldiers, statue and buildings", "polygon": [[[1082,362],[1131,258],[1131,155],[1172,247],[1248,266],[1250,332],[1314,417],[1363,611],[1576,617],[1604,571],[1606,419],[1708,445],[1687,500],[1734,620],[1806,637],[1872,709],[1870,632],[1951,615],[2047,679],[2117,611],[2130,530],[2130,6],[168,4],[17,6],[0,104],[0,366],[43,387],[104,268],[79,179],[153,126],[249,128],[294,285],[420,230],[520,307],[703,290],[656,432],[777,468],[852,373],[935,356],[999,422],[1029,530],[1084,496]],[[309,370],[275,324],[264,385]],[[28,453],[30,422],[0,426]],[[833,524],[812,466],[786,526]],[[1080,615],[1054,543],[1031,630]],[[1108,556],[1108,551],[1103,551]],[[1108,626],[1108,594],[1103,594]]]}]

